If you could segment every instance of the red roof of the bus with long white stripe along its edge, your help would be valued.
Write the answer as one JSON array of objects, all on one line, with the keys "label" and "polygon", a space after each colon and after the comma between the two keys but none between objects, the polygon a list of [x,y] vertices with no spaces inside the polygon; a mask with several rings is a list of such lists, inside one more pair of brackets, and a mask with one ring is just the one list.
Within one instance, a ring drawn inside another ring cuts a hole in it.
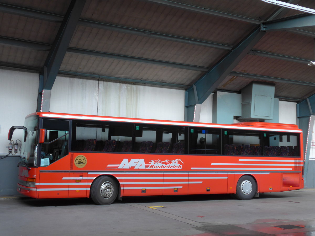
[{"label": "red roof of the bus with long white stripe along its edge", "polygon": [[113,116],[99,116],[99,115],[81,115],[81,114],[66,114],[54,112],[36,112],[31,115],[38,115],[43,118],[59,118],[59,119],[75,119],[75,120],[90,120],[90,121],[117,121],[117,122],[132,122],[143,124],[162,124],[162,125],[182,125],[182,126],[195,126],[195,127],[211,127],[211,128],[232,128],[232,129],[245,129],[245,130],[266,130],[266,131],[284,131],[284,132],[302,132],[297,125],[294,124],[281,124],[269,122],[240,122],[234,124],[214,124],[214,123],[200,123],[188,121],[168,121],[168,120],[153,120],[153,119],[140,119],[140,118],[126,118],[126,117],[113,117]]}]

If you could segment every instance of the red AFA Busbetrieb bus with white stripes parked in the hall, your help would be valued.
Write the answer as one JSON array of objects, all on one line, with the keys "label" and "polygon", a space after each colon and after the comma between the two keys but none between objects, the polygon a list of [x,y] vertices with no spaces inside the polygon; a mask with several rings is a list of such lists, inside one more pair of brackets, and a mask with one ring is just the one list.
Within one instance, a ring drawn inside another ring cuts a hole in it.
[{"label": "red AFA Busbetrieb bus with white stripes parked in the hall", "polygon": [[26,116],[18,191],[89,198],[259,193],[303,188],[296,125],[231,125],[37,112]]}]

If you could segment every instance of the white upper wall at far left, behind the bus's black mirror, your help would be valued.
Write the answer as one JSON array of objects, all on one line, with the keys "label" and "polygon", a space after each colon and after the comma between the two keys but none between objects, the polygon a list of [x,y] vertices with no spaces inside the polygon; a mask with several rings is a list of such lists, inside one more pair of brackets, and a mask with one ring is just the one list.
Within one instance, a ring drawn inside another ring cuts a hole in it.
[{"label": "white upper wall at far left, behind the bus's black mirror", "polygon": [[[8,153],[9,128],[23,125],[25,116],[36,111],[39,76],[37,73],[0,69],[0,153]],[[22,130],[12,139],[23,141]],[[20,148],[20,142],[19,148]]]}]

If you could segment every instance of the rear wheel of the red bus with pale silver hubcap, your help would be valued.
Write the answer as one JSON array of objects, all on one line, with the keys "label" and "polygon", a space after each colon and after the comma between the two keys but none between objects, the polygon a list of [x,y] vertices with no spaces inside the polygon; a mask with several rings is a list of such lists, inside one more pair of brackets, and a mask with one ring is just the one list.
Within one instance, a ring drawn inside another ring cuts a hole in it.
[{"label": "rear wheel of the red bus with pale silver hubcap", "polygon": [[252,199],[257,192],[257,184],[253,177],[243,175],[239,178],[236,185],[235,197],[240,200]]}]

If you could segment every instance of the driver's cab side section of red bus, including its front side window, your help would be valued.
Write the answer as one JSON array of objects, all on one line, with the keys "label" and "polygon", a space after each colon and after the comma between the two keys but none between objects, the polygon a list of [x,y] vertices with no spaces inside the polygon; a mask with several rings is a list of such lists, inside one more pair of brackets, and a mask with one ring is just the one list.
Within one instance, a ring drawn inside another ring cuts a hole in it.
[{"label": "driver's cab side section of red bus, including its front side window", "polygon": [[39,198],[67,198],[70,179],[69,121],[42,119],[41,154],[38,157]]}]

